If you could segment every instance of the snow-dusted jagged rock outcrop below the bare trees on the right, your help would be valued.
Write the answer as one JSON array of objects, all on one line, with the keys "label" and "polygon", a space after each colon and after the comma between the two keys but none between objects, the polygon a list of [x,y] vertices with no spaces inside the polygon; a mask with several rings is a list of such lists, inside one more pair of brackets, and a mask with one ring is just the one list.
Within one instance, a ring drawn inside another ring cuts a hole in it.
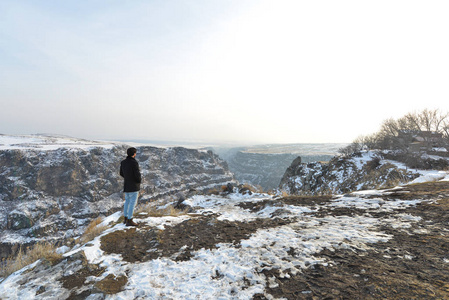
[{"label": "snow-dusted jagged rock outcrop below the bare trees on the right", "polygon": [[328,163],[302,163],[298,157],[288,167],[279,188],[292,195],[343,194],[390,188],[418,176],[369,152],[360,157],[334,157]]}]

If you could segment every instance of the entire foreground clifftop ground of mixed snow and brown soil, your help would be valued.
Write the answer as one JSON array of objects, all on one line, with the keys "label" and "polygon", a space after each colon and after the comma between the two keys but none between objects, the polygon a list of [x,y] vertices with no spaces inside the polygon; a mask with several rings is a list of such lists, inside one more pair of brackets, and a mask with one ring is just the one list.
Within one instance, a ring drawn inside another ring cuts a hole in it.
[{"label": "entire foreground clifftop ground of mixed snow and brown soil", "polygon": [[449,291],[438,282],[449,277],[449,255],[432,243],[444,245],[435,233],[447,218],[427,215],[438,209],[435,198],[404,188],[321,198],[197,195],[184,201],[191,213],[142,213],[137,229],[115,213],[101,224],[106,231],[57,264],[38,261],[3,280],[0,298],[443,299]]}]

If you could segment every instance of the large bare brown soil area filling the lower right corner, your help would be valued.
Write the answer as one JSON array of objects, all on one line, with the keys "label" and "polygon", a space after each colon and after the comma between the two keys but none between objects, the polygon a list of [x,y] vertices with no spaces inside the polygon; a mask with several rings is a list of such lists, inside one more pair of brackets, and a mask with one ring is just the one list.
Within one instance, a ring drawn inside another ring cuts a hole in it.
[{"label": "large bare brown soil area filling the lower right corner", "polygon": [[[315,265],[290,278],[281,278],[276,270],[264,271],[278,284],[268,288],[268,293],[286,299],[449,299],[449,263],[443,261],[449,259],[448,195],[449,183],[435,182],[407,186],[384,196],[439,198],[437,203],[424,202],[404,211],[422,218],[413,229],[425,228],[428,233],[385,227],[382,230],[394,238],[371,245],[370,251],[324,250],[317,255],[333,261],[332,266]],[[346,213],[357,211],[347,209]],[[343,214],[344,209],[320,213]],[[256,295],[254,299],[266,298]]]}]

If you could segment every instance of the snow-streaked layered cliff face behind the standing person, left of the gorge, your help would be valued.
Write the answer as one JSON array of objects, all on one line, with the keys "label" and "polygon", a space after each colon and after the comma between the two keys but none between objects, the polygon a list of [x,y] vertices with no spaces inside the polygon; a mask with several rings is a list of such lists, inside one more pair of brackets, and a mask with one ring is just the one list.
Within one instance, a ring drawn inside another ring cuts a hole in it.
[{"label": "snow-streaked layered cliff face behind the standing person, left of the gorge", "polygon": [[[127,148],[1,150],[0,257],[17,242],[75,236],[92,218],[121,210],[119,165]],[[143,175],[140,203],[234,181],[227,164],[211,151],[137,148]]]}]

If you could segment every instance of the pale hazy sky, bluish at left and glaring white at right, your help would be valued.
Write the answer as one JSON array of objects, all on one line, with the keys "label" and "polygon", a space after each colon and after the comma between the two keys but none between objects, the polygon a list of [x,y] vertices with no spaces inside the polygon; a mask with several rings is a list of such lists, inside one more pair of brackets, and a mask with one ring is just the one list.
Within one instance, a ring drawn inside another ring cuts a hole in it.
[{"label": "pale hazy sky, bluish at left and glaring white at right", "polygon": [[351,142],[449,111],[449,1],[0,0],[0,133]]}]

